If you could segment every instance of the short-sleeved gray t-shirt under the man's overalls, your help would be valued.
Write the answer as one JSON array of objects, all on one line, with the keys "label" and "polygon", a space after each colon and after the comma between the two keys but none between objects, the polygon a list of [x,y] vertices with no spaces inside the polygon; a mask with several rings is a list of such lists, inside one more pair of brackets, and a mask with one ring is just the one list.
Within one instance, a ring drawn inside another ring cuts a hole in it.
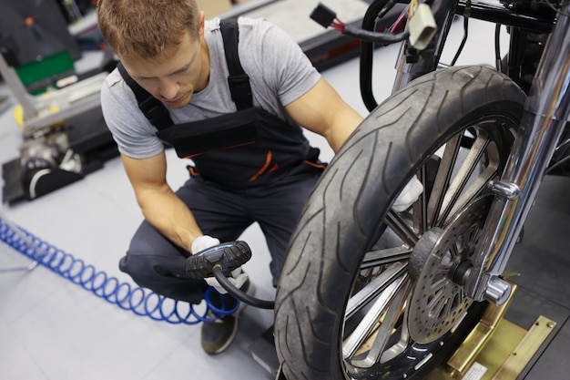
[{"label": "short-sleeved gray t-shirt under the man's overalls", "polygon": [[[219,18],[206,22],[204,35],[209,46],[209,85],[195,93],[187,107],[169,109],[175,123],[236,111],[229,95]],[[253,105],[283,119],[283,106],[300,98],[321,78],[300,46],[265,19],[239,18],[239,60],[249,75]],[[138,109],[137,99],[117,69],[107,76],[101,88],[101,107],[119,152],[145,159],[164,149],[156,136],[157,129]]]}]

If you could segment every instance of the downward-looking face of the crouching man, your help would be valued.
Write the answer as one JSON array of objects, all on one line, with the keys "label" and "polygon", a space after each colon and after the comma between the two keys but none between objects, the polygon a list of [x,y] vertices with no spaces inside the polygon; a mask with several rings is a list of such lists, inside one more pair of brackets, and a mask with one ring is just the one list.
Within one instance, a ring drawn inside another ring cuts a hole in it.
[{"label": "downward-looking face of the crouching man", "polygon": [[208,85],[209,56],[203,27],[202,20],[199,38],[186,33],[181,44],[158,62],[130,56],[121,56],[121,61],[128,74],[155,98],[169,108],[183,108],[195,92]]}]

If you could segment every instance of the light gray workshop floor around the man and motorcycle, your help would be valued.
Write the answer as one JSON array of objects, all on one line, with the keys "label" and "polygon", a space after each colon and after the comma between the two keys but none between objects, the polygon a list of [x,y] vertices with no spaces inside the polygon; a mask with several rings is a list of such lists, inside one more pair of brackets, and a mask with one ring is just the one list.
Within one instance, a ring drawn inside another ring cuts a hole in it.
[{"label": "light gray workshop floor around the man and motorcycle", "polygon": [[[455,24],[453,27],[457,29],[452,33],[450,46],[459,46],[463,36],[461,23]],[[459,63],[493,64],[493,26],[473,21],[470,38]],[[377,99],[385,98],[391,91],[397,50],[397,46],[389,46],[375,54]],[[446,52],[447,59],[453,53]],[[353,59],[323,75],[347,102],[365,115],[358,73],[358,61]],[[9,94],[10,90],[1,84],[0,98]],[[0,115],[2,163],[19,156],[20,135],[13,118],[14,106],[14,102],[10,103]],[[324,147],[321,138],[310,135],[310,139],[323,148],[323,159],[331,157],[331,150]],[[185,180],[185,164],[172,152],[168,153],[168,164],[168,180],[176,188]],[[523,273],[516,281],[528,301],[514,312],[528,313],[533,308],[527,305],[533,304],[540,305],[538,309],[534,306],[533,313],[544,310],[551,313],[545,316],[556,318],[556,331],[565,334],[559,334],[564,335],[560,339],[556,336],[551,344],[553,350],[548,351],[551,354],[545,354],[544,361],[528,368],[526,378],[561,379],[567,376],[560,374],[568,373],[561,353],[565,352],[569,336],[567,327],[562,326],[570,310],[566,280],[570,264],[560,254],[567,252],[568,246],[570,202],[566,194],[570,182],[547,178],[544,187],[545,195],[539,194],[525,230],[526,239],[517,248],[520,254],[514,259],[513,270]],[[2,204],[0,215],[93,265],[97,271],[116,276],[119,282],[132,283],[118,271],[117,261],[126,251],[141,214],[118,159],[107,161],[104,169],[40,199]],[[245,269],[257,286],[257,295],[270,299],[274,290],[270,286],[269,254],[259,228],[253,226],[242,239],[253,250],[253,258]],[[533,259],[538,254],[550,261]],[[0,243],[0,268],[27,263],[23,255]],[[200,348],[199,325],[168,324],[137,316],[43,266],[30,272],[0,272],[0,379],[271,379],[273,376],[249,354],[249,346],[271,323],[271,311],[246,308],[235,344],[224,354],[209,356]],[[558,375],[543,376],[544,371],[558,371]]]}]

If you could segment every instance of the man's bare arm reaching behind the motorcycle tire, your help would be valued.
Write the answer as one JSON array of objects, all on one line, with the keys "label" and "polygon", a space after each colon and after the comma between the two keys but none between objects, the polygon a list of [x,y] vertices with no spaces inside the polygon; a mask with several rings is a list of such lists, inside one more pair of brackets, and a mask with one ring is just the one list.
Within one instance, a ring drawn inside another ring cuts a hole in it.
[{"label": "man's bare arm reaching behind the motorcycle tire", "polygon": [[285,109],[300,126],[327,139],[335,153],[362,121],[323,78]]}]

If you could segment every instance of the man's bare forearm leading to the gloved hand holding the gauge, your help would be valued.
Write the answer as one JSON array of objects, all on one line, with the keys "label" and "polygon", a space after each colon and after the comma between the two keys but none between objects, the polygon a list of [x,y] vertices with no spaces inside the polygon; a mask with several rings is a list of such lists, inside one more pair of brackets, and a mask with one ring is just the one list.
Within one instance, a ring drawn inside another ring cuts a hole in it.
[{"label": "man's bare forearm leading to the gloved hand holding the gauge", "polygon": [[168,186],[164,151],[149,159],[132,159],[125,155],[121,155],[121,159],[147,221],[190,252],[192,241],[202,232],[186,204]]}]

